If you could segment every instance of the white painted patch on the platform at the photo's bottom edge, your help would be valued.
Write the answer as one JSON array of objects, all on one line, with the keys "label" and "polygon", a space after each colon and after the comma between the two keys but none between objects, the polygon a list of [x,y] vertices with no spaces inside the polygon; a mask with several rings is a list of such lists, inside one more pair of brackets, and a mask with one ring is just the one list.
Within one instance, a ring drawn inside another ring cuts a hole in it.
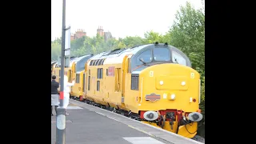
[{"label": "white painted patch on the platform at the photo's bottom edge", "polygon": [[150,137],[129,137],[124,139],[132,144],[165,144]]}]

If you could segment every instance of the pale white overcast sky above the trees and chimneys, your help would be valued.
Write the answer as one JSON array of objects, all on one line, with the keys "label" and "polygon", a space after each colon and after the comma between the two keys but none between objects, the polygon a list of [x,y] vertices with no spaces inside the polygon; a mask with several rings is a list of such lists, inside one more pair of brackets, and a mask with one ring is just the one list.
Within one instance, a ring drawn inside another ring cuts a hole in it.
[{"label": "pale white overcast sky above the trees and chimneys", "polygon": [[[180,6],[190,2],[202,7],[202,0],[66,0],[66,27],[87,36],[97,34],[98,26],[114,38],[139,36],[153,30],[166,34]],[[51,0],[51,40],[62,36],[62,0]]]}]

